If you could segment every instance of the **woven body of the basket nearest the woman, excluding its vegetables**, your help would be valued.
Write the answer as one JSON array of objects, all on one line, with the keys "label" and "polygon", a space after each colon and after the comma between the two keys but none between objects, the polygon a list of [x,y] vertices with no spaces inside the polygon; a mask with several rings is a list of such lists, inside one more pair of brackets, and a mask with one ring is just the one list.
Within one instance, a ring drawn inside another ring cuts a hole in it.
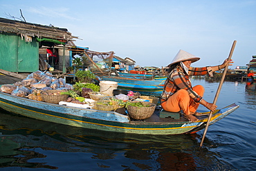
[{"label": "woven body of the basket nearest the woman, excluding its vegetables", "polygon": [[[137,102],[138,103],[138,102]],[[132,105],[127,105],[127,111],[131,118],[133,119],[147,119],[152,116],[156,105],[154,103],[149,102],[140,102],[143,104],[149,105],[149,107],[136,107]]]}]

